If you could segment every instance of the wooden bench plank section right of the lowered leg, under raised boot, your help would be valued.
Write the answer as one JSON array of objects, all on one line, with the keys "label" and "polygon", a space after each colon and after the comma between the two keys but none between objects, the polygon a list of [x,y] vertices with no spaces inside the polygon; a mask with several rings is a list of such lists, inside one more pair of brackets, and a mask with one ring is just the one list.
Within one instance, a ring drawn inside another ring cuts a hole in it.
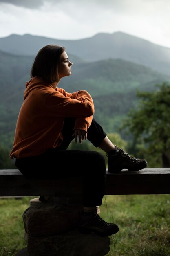
[{"label": "wooden bench plank section right of the lowered leg, under raised boot", "polygon": [[145,168],[135,172],[123,170],[114,176],[107,174],[106,171],[106,195],[170,193],[170,168]]}]

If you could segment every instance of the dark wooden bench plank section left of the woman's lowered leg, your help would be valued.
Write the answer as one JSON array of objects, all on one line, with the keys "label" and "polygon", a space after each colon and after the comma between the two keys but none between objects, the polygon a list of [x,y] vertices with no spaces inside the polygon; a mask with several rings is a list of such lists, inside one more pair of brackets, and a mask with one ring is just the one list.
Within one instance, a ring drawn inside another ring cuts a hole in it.
[{"label": "dark wooden bench plank section left of the woman's lowered leg", "polygon": [[[26,178],[18,170],[9,170],[3,175],[0,170],[0,196],[37,196],[37,195],[81,195],[82,183],[79,178],[57,180],[36,180]],[[4,175],[5,174],[5,175]]]}]

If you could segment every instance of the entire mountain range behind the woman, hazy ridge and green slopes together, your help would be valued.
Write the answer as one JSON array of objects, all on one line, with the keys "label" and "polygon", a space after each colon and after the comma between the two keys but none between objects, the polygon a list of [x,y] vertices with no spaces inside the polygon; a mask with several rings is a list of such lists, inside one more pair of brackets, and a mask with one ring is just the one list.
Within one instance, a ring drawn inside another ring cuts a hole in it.
[{"label": "entire mountain range behind the woman, hazy ridge and green slopes together", "polygon": [[[170,49],[124,33],[97,34],[92,38],[74,41],[31,35],[0,38],[1,144],[12,146],[15,124],[23,102],[25,83],[30,79],[33,59],[41,47],[51,43],[64,45],[73,62],[72,75],[63,78],[59,87],[67,92],[87,90],[95,103],[95,118],[106,132],[117,132],[130,108],[136,108],[137,89],[157,90],[156,84],[170,82],[170,76],[167,75],[169,73],[165,72],[170,65]],[[131,52],[128,52],[129,49]],[[159,54],[156,54],[156,49],[159,49]],[[127,60],[130,56],[131,61]],[[156,63],[156,59],[160,62]],[[166,66],[164,72],[161,72],[161,60]],[[159,72],[153,68],[154,62],[159,66]],[[152,67],[149,63],[153,64]]]}]

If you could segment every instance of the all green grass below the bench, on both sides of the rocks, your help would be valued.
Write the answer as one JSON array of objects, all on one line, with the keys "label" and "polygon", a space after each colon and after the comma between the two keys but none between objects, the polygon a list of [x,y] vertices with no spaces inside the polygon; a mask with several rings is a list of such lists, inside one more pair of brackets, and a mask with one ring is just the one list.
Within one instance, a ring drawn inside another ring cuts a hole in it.
[{"label": "all green grass below the bench, on both sides of the rocks", "polygon": [[[0,199],[0,256],[26,247],[22,214],[31,198]],[[107,256],[170,256],[170,195],[107,195],[100,211],[119,225]]]}]

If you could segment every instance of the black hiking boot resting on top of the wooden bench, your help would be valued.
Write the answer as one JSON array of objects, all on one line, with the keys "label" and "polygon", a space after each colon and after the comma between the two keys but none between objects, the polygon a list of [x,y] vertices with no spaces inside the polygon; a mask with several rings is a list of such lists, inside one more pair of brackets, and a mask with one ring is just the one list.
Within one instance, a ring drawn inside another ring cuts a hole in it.
[{"label": "black hiking boot resting on top of the wooden bench", "polygon": [[116,145],[114,150],[106,153],[106,156],[108,157],[108,171],[110,173],[119,173],[122,169],[139,171],[148,165],[145,159],[132,157]]}]

